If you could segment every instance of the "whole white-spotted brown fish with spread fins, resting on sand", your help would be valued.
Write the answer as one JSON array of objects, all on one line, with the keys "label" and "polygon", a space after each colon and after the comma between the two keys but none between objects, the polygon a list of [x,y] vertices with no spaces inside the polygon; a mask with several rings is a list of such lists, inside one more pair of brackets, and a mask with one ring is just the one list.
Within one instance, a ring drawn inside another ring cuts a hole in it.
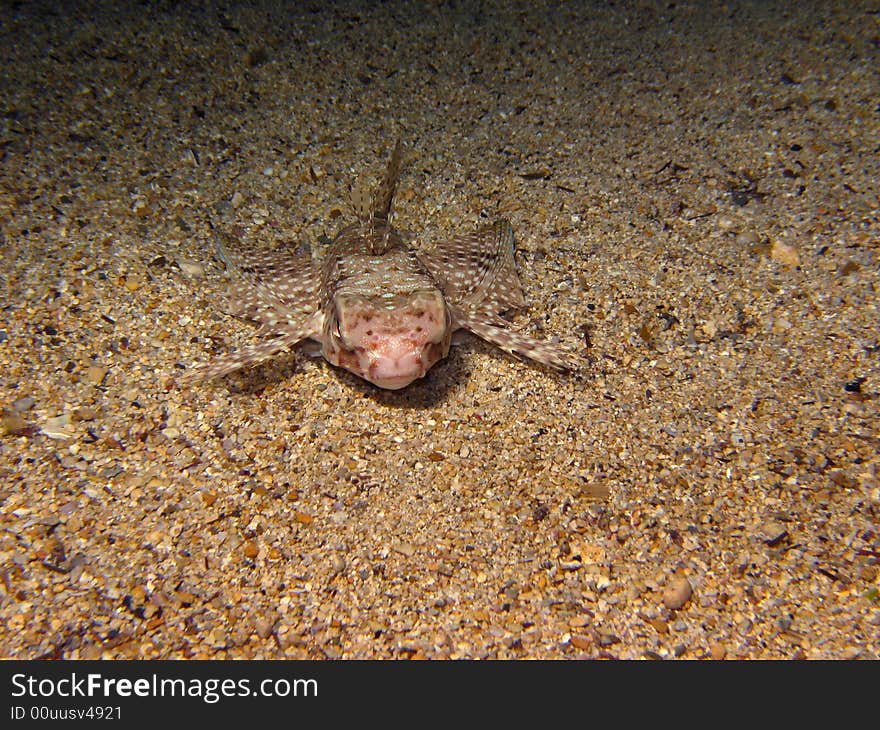
[{"label": "whole white-spotted brown fish with spread fins, resting on sand", "polygon": [[399,390],[449,354],[458,330],[556,371],[584,366],[578,353],[515,330],[502,316],[525,306],[509,221],[425,250],[404,241],[393,224],[402,160],[398,140],[381,183],[372,196],[352,193],[356,220],[320,258],[217,236],[232,313],[257,322],[263,339],[196,365],[185,381],[227,375],[314,340],[331,365]]}]

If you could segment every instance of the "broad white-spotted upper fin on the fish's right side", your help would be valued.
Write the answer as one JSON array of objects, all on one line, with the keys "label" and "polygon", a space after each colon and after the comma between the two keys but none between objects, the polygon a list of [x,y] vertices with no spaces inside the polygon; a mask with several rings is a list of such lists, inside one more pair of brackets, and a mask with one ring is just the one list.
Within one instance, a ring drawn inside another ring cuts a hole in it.
[{"label": "broad white-spotted upper fin on the fish's right side", "polygon": [[500,220],[440,243],[419,259],[451,304],[500,314],[525,304],[513,249],[513,229]]}]

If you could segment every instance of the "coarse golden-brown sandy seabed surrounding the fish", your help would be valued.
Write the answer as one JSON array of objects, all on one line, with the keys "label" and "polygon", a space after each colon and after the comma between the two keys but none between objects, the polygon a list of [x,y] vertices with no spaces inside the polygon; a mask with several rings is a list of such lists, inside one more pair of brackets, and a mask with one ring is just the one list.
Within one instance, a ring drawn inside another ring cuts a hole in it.
[{"label": "coarse golden-brown sandy seabed surrounding the fish", "polygon": [[[4,3],[0,656],[877,658],[876,2]],[[516,327],[384,392],[211,225],[506,217]]]}]

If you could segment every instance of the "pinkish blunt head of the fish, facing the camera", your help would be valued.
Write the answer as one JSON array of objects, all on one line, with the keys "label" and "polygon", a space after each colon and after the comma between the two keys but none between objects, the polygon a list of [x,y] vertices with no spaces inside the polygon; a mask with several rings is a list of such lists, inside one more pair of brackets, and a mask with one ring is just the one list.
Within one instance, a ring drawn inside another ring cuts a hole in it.
[{"label": "pinkish blunt head of the fish, facing the camera", "polygon": [[328,362],[398,390],[446,357],[452,317],[438,289],[375,297],[337,293],[323,335]]}]

